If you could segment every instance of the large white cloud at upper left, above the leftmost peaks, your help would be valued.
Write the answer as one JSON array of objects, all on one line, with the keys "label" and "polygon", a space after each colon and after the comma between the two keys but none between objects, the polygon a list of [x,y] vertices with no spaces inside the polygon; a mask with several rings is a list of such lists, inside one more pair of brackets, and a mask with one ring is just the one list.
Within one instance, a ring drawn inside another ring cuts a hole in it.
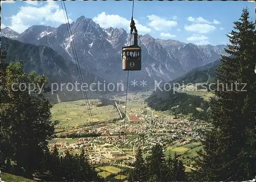
[{"label": "large white cloud at upper left, above the leftmost peaks", "polygon": [[[19,12],[10,18],[10,28],[18,33],[22,33],[30,26],[41,25],[45,21],[53,22],[56,26],[66,23],[62,9],[55,1],[47,1],[42,7],[22,6]],[[71,23],[73,20],[69,18],[69,21]]]}]

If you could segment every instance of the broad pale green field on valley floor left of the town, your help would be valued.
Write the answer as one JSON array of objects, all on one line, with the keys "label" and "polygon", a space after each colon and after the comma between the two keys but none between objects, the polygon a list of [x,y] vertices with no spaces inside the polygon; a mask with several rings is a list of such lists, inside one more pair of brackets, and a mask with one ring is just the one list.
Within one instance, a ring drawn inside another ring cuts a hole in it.
[{"label": "broad pale green field on valley floor left of the town", "polygon": [[[89,100],[94,102],[96,100]],[[53,120],[59,120],[57,131],[65,128],[78,127],[85,122],[90,122],[90,115],[84,100],[61,102],[55,104],[52,111]],[[119,118],[118,111],[113,105],[96,107],[90,106],[93,121],[106,121],[109,119]]]}]

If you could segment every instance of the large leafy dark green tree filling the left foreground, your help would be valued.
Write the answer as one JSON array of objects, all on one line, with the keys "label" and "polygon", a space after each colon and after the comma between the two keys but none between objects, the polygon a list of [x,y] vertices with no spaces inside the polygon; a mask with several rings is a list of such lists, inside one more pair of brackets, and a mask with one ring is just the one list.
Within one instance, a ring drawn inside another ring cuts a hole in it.
[{"label": "large leafy dark green tree filling the left foreground", "polygon": [[[3,54],[2,54],[3,53]],[[51,120],[50,101],[44,97],[48,79],[26,73],[22,62],[5,62],[1,53],[1,157],[15,161],[27,175],[40,169],[47,140],[57,121]]]}]

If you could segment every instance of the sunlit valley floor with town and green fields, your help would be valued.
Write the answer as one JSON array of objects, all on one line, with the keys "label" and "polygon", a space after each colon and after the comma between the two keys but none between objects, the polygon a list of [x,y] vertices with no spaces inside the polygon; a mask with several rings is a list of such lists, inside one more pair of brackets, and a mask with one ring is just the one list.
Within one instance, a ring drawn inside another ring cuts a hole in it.
[{"label": "sunlit valley floor with town and green fields", "polygon": [[[84,148],[90,161],[99,167],[98,174],[102,177],[120,172],[121,160],[124,168],[132,168],[137,146],[141,144],[143,157],[151,155],[151,147],[160,143],[166,156],[177,153],[183,161],[186,172],[196,170],[194,161],[197,151],[202,149],[197,130],[207,125],[200,120],[189,120],[186,116],[173,116],[169,111],[155,111],[144,103],[149,93],[129,94],[125,120],[125,138],[121,134],[124,119],[119,111],[124,112],[125,103],[99,106],[100,100],[90,100],[95,125],[90,122],[87,106],[83,100],[62,102],[52,108],[54,120],[59,120],[56,127],[56,138],[49,141],[50,150],[57,145],[59,153],[65,150],[80,153]],[[114,96],[114,100],[125,101],[125,96]],[[119,111],[118,111],[119,110]],[[111,119],[116,119],[113,121]],[[83,137],[85,133],[99,133],[99,137]],[[73,134],[74,138],[68,138]],[[122,152],[122,144],[124,149]],[[104,167],[102,166],[104,164]],[[116,178],[120,177],[117,175]],[[121,178],[125,178],[123,175]]]}]

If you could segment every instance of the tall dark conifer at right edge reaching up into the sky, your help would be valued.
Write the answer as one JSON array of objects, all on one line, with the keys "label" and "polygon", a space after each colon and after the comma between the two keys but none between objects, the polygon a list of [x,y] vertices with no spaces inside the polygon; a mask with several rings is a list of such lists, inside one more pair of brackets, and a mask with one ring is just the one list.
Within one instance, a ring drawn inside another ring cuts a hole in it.
[{"label": "tall dark conifer at right edge reaching up into the sky", "polygon": [[[227,37],[230,45],[217,68],[215,97],[210,99],[208,122],[202,132],[198,177],[202,180],[248,180],[255,163],[255,24],[243,9]],[[246,86],[244,87],[244,85]],[[244,91],[246,90],[246,91]]]}]

